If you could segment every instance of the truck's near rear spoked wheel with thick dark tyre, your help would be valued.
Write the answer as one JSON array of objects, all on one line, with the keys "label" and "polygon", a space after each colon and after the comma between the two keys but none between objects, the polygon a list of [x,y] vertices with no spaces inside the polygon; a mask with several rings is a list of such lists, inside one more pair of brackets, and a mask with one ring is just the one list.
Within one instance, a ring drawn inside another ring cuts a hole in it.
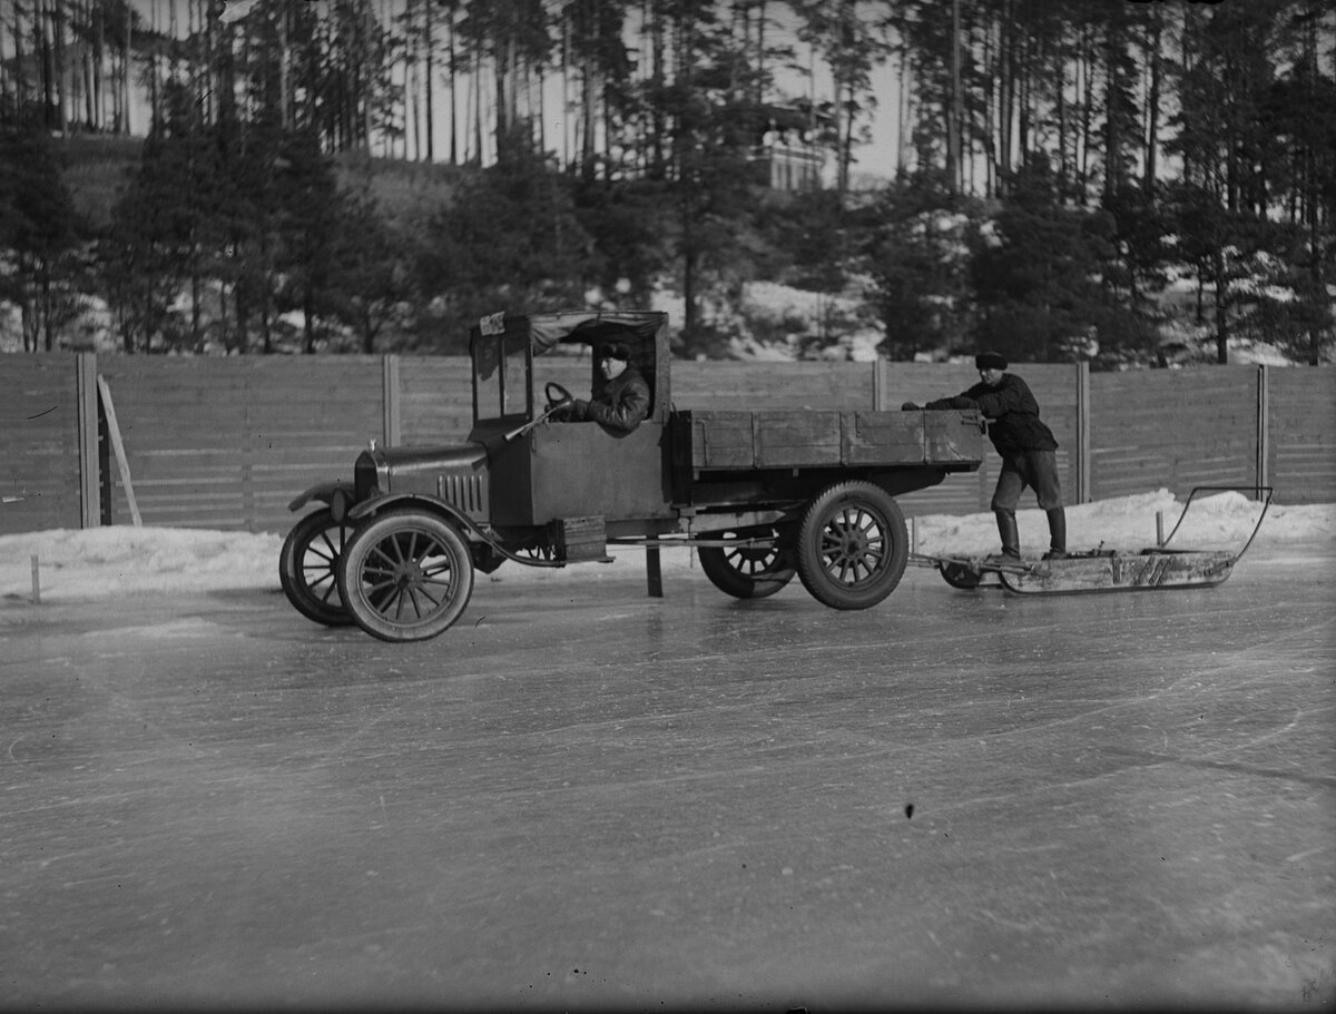
[{"label": "truck's near rear spoked wheel with thick dark tyre", "polygon": [[820,493],[798,529],[798,576],[819,603],[867,609],[899,584],[908,562],[899,504],[871,482],[840,482]]}]

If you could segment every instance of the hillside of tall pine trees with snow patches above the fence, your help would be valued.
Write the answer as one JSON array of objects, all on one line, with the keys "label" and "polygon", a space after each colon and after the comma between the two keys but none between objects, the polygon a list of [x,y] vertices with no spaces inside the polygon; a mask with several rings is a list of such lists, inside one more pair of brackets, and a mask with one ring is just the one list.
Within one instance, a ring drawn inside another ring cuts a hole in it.
[{"label": "hillside of tall pine trees with snow patches above the fence", "polygon": [[458,353],[591,306],[688,357],[1332,359],[1316,0],[47,7],[0,4],[4,350]]}]

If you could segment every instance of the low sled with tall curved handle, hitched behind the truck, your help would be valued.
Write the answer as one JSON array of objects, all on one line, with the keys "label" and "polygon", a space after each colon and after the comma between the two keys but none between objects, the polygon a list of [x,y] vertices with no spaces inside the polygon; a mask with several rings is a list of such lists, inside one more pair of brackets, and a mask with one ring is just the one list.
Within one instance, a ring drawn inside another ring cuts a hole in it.
[{"label": "low sled with tall curved handle, hitched behind the truck", "polygon": [[[1252,490],[1265,493],[1252,534],[1238,552],[1218,549],[1172,549],[1169,542],[1182,526],[1198,493]],[[931,566],[953,588],[978,588],[990,574],[997,584],[1017,595],[1073,595],[1077,592],[1138,592],[1149,588],[1209,588],[1222,584],[1234,564],[1248,552],[1271,506],[1271,486],[1196,486],[1182,505],[1182,513],[1169,536],[1157,546],[1141,550],[1089,549],[1057,560],[1003,560],[998,556],[923,556],[910,562]],[[991,582],[990,582],[991,584]]]}]

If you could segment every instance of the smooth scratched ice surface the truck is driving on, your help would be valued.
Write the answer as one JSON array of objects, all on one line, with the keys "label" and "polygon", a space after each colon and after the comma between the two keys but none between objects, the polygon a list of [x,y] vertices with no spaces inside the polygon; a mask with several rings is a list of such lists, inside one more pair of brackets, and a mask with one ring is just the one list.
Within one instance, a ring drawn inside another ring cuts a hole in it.
[{"label": "smooth scratched ice surface the truck is driving on", "polygon": [[852,613],[566,573],[411,645],[0,605],[0,1006],[1336,998],[1331,542]]}]

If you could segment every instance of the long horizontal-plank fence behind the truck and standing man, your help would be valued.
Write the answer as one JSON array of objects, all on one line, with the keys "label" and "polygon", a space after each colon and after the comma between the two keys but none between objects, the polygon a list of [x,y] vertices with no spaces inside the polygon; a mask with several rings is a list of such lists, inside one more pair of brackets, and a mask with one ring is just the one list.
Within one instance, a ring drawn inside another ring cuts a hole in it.
[{"label": "long horizontal-plank fence behind the truck and standing man", "polygon": [[[578,393],[588,363],[570,363]],[[1204,366],[1092,374],[1019,363],[1061,448],[1069,502],[1194,485],[1272,485],[1336,502],[1336,370]],[[351,477],[369,438],[460,441],[472,421],[457,357],[0,357],[0,533],[127,524],[111,406],[147,525],[286,530],[287,501]],[[955,394],[969,366],[675,362],[679,409],[896,409]],[[102,440],[99,440],[102,436]],[[998,460],[902,497],[908,514],[987,509]]]}]

